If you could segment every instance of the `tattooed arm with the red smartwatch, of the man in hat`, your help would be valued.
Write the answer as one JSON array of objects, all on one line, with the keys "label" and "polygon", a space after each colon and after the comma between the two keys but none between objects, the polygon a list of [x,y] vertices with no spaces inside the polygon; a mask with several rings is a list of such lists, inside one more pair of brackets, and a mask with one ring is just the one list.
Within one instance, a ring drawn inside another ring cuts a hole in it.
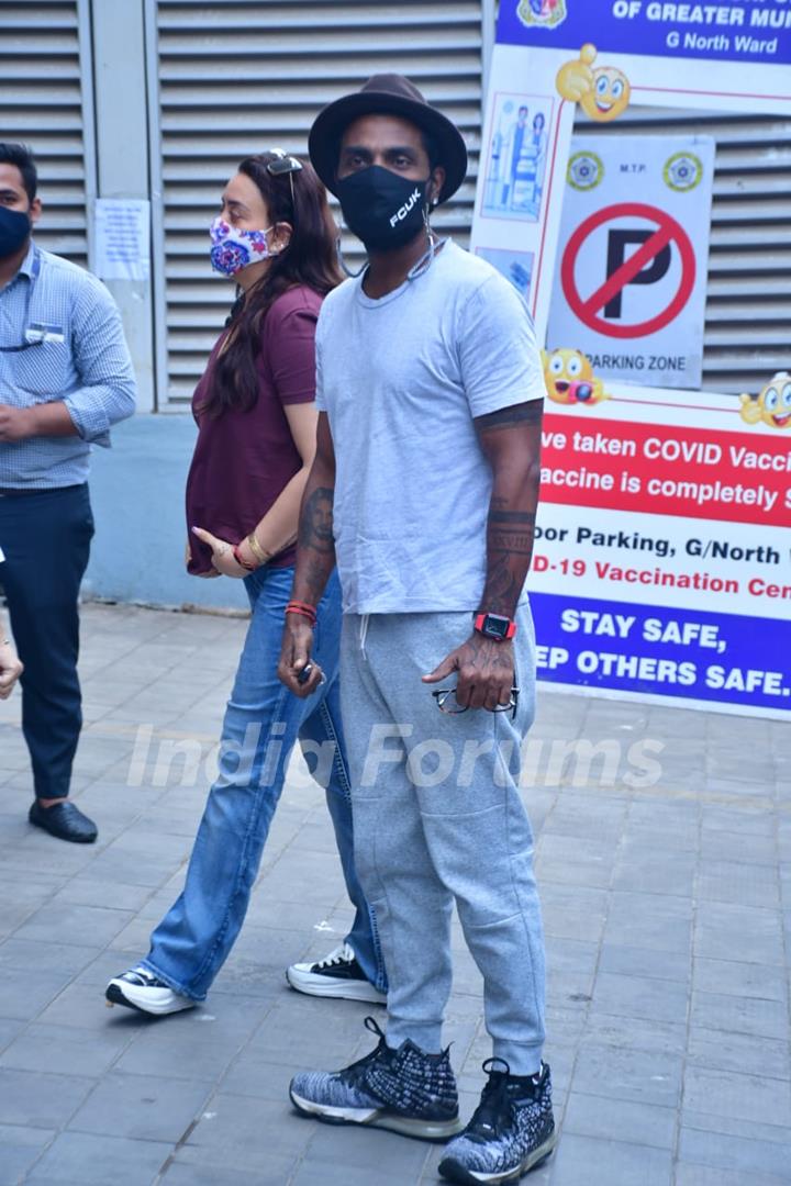
[{"label": "tattooed arm with the red smartwatch, of the man in hat", "polygon": [[[512,618],[530,567],[541,478],[543,402],[515,404],[478,416],[476,432],[495,478],[486,525],[486,584],[480,601],[485,613]],[[513,684],[513,645],[472,632],[426,683],[453,671],[457,700],[470,708],[508,704]]]}]

